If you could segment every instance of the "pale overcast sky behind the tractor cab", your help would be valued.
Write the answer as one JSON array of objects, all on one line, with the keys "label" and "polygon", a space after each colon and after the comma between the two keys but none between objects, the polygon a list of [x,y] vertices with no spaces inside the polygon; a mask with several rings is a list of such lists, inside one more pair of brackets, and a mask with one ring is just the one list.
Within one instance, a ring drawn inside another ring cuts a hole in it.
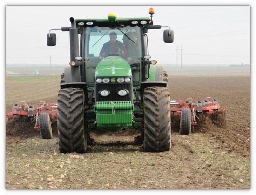
[{"label": "pale overcast sky behind the tractor cab", "polygon": [[[149,17],[174,30],[174,42],[163,42],[163,30],[149,30],[149,54],[160,64],[250,64],[251,7],[236,6],[6,6],[6,64],[69,63],[69,34],[54,31],[57,45],[48,47],[50,29],[70,27],[69,18]],[[178,50],[177,50],[178,48]]]}]

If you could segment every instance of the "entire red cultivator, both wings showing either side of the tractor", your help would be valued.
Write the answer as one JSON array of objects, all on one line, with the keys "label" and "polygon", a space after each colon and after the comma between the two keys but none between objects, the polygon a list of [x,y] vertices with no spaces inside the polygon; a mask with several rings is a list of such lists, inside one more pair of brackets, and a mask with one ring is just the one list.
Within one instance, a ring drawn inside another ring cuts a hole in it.
[{"label": "entire red cultivator, both wings showing either side of the tractor", "polygon": [[[212,99],[211,97],[206,97],[203,101],[196,101],[196,104],[192,102],[192,98],[188,98],[186,101],[172,100],[170,101],[170,105],[171,116],[180,117],[179,132],[184,135],[191,133],[191,126],[197,125],[196,120],[199,119],[202,114],[221,115],[223,119],[226,114],[226,110],[220,108],[218,100]],[[41,138],[51,139],[51,118],[57,117],[57,104],[46,104],[45,101],[40,101],[39,107],[34,109],[34,106],[28,105],[25,101],[21,101],[20,104],[15,103],[12,112],[7,114],[8,120],[18,116],[34,119],[34,128],[40,129]]]}]

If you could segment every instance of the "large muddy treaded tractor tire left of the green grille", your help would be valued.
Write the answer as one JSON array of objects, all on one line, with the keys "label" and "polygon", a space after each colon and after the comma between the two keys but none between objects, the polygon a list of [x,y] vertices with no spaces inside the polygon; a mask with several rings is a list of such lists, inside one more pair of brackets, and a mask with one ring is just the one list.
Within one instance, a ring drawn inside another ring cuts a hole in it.
[{"label": "large muddy treaded tractor tire left of the green grille", "polygon": [[84,92],[80,88],[65,88],[58,93],[57,129],[61,153],[85,153],[87,133],[84,131]]}]

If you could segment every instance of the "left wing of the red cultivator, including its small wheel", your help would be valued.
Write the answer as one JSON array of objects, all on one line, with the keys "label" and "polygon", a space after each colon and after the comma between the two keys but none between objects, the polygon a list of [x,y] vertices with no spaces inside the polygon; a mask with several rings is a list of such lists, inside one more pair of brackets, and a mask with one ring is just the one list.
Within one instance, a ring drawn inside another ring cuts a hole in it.
[{"label": "left wing of the red cultivator, including its small wheel", "polygon": [[52,138],[52,117],[57,117],[57,104],[45,101],[39,102],[39,107],[34,109],[33,105],[28,105],[25,101],[20,101],[20,104],[15,103],[11,113],[7,114],[8,120],[15,117],[24,116],[34,119],[34,128],[40,129],[41,138]]}]

